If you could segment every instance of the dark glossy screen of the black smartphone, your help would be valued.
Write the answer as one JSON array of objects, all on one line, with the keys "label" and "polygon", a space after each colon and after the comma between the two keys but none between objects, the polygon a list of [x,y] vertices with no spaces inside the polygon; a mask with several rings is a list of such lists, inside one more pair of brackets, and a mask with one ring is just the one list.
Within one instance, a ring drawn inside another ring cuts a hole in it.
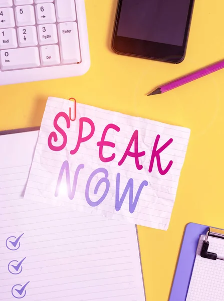
[{"label": "dark glossy screen of the black smartphone", "polygon": [[190,0],[123,0],[117,36],[183,46]]}]

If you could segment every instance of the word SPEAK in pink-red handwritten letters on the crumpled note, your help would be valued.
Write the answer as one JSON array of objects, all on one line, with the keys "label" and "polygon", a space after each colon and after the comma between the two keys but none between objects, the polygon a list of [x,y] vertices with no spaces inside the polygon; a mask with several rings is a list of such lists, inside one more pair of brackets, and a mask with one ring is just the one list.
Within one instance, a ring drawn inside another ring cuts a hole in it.
[{"label": "word SPEAK in pink-red handwritten letters on the crumpled note", "polygon": [[[48,137],[48,146],[49,146],[49,148],[51,150],[54,150],[55,152],[60,152],[60,150],[64,149],[66,147],[67,141],[68,141],[66,132],[58,125],[58,120],[61,117],[65,119],[65,121],[66,121],[66,127],[67,128],[70,128],[70,126],[71,126],[70,118],[69,118],[69,116],[65,112],[60,112],[60,113],[58,113],[55,116],[55,119],[54,119],[55,130],[58,131],[59,134],[61,134],[62,137],[63,137],[62,144],[59,145],[59,146],[55,146],[55,145],[53,145],[52,141],[54,140],[54,142],[57,142],[58,141],[58,135],[57,135],[57,133],[55,131],[53,131],[53,132],[50,133],[50,135]],[[90,130],[89,134],[86,135],[86,136],[83,136],[84,123],[88,123],[90,125],[90,127],[91,127],[91,130]],[[107,132],[108,132],[109,129],[110,130],[112,129],[112,130],[114,130],[116,132],[119,132],[120,131],[120,127],[117,126],[116,124],[109,123],[104,128],[100,141],[97,142],[97,146],[99,147],[99,159],[101,160],[101,162],[104,162],[104,163],[111,162],[116,157],[116,154],[114,154],[114,153],[110,157],[104,157],[103,156],[103,147],[104,146],[109,146],[111,148],[115,147],[115,143],[114,142],[106,140],[106,134],[107,134]],[[88,117],[81,117],[79,119],[78,140],[77,140],[75,148],[70,151],[70,154],[71,155],[75,155],[78,152],[81,143],[85,143],[86,141],[90,140],[93,137],[94,132],[95,132],[95,124],[94,124],[94,122],[90,118],[88,118]],[[156,138],[155,138],[155,141],[154,141],[154,145],[153,145],[153,148],[152,148],[152,154],[151,154],[151,159],[150,159],[150,163],[149,163],[148,172],[149,173],[152,172],[154,161],[156,159],[157,168],[158,168],[158,171],[159,171],[160,175],[165,175],[170,170],[173,162],[169,161],[168,165],[163,170],[162,166],[161,166],[160,154],[163,152],[163,150],[166,147],[168,147],[172,143],[173,139],[170,138],[160,148],[157,149],[159,138],[160,138],[160,135],[157,135]],[[131,149],[131,147],[132,147],[133,144],[134,144],[134,152],[131,152],[130,149]],[[126,160],[127,157],[132,157],[135,160],[135,166],[136,166],[137,170],[142,170],[143,166],[139,164],[139,158],[143,157],[144,155],[145,155],[145,151],[139,152],[139,149],[138,149],[138,130],[135,130],[133,132],[131,138],[130,138],[130,141],[129,141],[129,143],[127,145],[127,148],[126,148],[126,150],[124,152],[124,155],[122,156],[122,158],[118,162],[118,165],[121,166],[125,162],[125,160]]]}]

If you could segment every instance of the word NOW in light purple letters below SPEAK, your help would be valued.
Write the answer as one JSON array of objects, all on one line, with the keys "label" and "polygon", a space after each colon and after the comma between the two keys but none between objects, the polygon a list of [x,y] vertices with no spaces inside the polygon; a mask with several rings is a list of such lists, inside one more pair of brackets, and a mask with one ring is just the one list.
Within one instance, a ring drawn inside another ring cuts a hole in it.
[{"label": "word NOW in light purple letters below SPEAK", "polygon": [[[72,187],[71,187],[69,163],[68,163],[68,161],[63,162],[60,173],[59,173],[57,185],[56,185],[55,197],[59,196],[60,186],[61,186],[62,178],[63,178],[64,172],[65,172],[68,197],[69,197],[70,200],[74,199],[75,193],[76,193],[76,187],[77,187],[79,173],[81,172],[82,169],[84,169],[84,167],[85,167],[84,164],[80,164],[77,167],[77,169],[75,171],[74,179],[73,179],[73,184],[72,184]],[[104,191],[103,195],[99,198],[99,200],[96,201],[96,202],[93,202],[90,199],[89,190],[90,190],[90,185],[91,185],[91,182],[92,182],[93,178],[95,176],[97,176],[98,174],[103,174],[104,177],[101,178],[97,182],[97,184],[95,186],[95,189],[94,189],[94,194],[96,195],[98,193],[99,188],[103,183],[106,185],[106,187],[105,187],[105,191]],[[87,203],[90,206],[96,207],[96,206],[100,205],[105,200],[105,198],[107,197],[107,194],[108,194],[109,189],[110,189],[110,181],[108,179],[108,176],[109,176],[109,173],[105,168],[98,168],[95,171],[93,171],[92,174],[89,176],[89,178],[87,180],[87,183],[86,183],[85,197],[86,197]],[[128,192],[129,192],[129,212],[133,213],[135,211],[135,208],[137,206],[138,199],[140,197],[142,189],[143,189],[144,186],[148,186],[148,182],[143,181],[140,184],[140,186],[138,188],[138,191],[137,191],[137,193],[134,197],[134,201],[133,201],[133,188],[134,188],[133,186],[134,186],[133,179],[129,179],[128,182],[127,182],[127,185],[126,185],[126,187],[125,187],[125,189],[122,193],[122,196],[120,197],[120,174],[119,173],[117,174],[117,177],[116,177],[116,190],[115,190],[115,210],[116,211],[119,211],[121,209],[121,206],[122,206],[122,204],[124,202],[124,199],[125,199]]]}]

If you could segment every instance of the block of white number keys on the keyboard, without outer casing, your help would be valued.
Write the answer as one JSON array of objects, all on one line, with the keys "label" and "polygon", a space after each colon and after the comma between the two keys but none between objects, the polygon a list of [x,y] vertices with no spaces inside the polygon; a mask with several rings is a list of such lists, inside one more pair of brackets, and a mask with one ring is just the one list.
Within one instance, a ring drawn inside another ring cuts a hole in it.
[{"label": "block of white number keys on the keyboard, without outer casing", "polygon": [[80,62],[75,0],[0,0],[0,71]]}]

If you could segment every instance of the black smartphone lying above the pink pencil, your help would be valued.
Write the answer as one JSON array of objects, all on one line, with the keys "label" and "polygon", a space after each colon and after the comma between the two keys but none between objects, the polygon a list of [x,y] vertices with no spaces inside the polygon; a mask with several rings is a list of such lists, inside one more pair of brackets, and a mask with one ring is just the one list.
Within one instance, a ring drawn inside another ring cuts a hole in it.
[{"label": "black smartphone lying above the pink pencil", "polygon": [[119,0],[112,48],[169,63],[185,57],[194,0]]}]

